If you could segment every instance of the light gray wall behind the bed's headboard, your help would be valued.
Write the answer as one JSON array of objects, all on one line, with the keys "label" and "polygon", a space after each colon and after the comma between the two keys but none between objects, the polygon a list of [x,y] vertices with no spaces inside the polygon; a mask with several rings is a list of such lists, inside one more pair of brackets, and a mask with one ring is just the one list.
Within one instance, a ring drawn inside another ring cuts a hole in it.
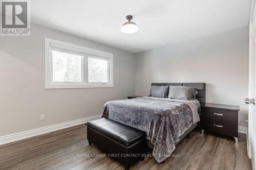
[{"label": "light gray wall behind the bed's headboard", "polygon": [[[136,54],[135,93],[147,95],[152,82],[205,82],[206,102],[248,109],[248,28],[239,28]],[[241,123],[247,126],[247,123]]]}]

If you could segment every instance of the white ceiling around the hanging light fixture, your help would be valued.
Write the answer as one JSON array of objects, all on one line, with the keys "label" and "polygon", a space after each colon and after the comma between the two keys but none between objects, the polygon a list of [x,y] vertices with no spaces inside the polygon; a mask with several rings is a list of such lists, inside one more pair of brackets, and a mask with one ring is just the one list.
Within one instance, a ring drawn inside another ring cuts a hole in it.
[{"label": "white ceiling around the hanging light fixture", "polygon": [[[245,27],[250,0],[33,0],[31,21],[48,28],[138,53]],[[120,27],[126,15],[139,26]]]}]

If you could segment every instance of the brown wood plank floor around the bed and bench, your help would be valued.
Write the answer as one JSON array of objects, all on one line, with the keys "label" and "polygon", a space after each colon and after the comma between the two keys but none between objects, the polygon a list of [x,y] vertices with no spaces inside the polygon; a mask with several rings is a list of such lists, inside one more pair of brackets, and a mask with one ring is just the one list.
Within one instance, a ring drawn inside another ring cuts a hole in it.
[{"label": "brown wood plank floor around the bed and bench", "polygon": [[[116,161],[96,155],[102,153],[89,145],[86,128],[80,125],[0,145],[0,169],[123,169]],[[251,169],[246,143],[207,132],[191,133],[190,139],[177,145],[176,157],[164,164],[146,157],[131,169]],[[243,135],[239,134],[239,140]]]}]

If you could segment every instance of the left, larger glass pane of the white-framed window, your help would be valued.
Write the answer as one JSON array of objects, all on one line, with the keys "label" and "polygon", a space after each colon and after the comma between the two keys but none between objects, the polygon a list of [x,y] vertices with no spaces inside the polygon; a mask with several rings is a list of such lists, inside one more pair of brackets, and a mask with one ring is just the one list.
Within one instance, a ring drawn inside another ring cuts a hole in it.
[{"label": "left, larger glass pane of the white-framed window", "polygon": [[82,57],[52,51],[53,82],[82,82]]}]

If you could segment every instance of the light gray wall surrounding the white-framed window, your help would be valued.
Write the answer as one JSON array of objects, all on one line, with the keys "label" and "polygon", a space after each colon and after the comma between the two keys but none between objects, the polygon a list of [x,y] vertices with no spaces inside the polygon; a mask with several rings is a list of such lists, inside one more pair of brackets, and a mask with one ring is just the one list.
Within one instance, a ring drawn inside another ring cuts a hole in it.
[{"label": "light gray wall surrounding the white-framed window", "polygon": [[[45,37],[113,53],[114,88],[45,89]],[[38,25],[31,36],[0,36],[0,136],[100,114],[134,94],[134,62],[133,53]]]}]

